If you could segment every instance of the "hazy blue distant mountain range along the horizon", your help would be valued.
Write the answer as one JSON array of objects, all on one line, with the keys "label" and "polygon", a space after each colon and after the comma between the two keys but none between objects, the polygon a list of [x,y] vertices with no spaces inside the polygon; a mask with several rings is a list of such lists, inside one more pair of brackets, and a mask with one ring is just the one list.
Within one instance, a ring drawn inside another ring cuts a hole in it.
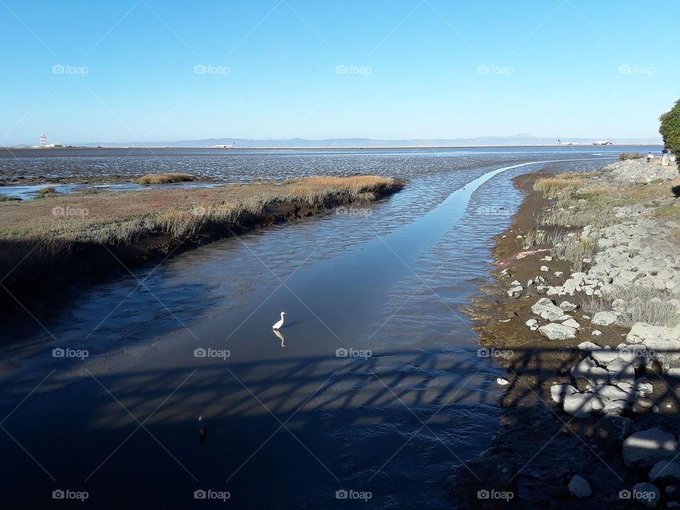
[{"label": "hazy blue distant mountain range along the horizon", "polygon": [[[600,138],[560,138],[562,142],[574,142],[580,145],[591,145]],[[649,138],[613,138],[616,145],[657,145],[661,144],[661,137]],[[290,140],[249,140],[246,138],[206,138],[203,140],[181,140],[180,142],[97,142],[72,144],[81,147],[211,147],[213,145],[232,145],[234,147],[475,147],[502,145],[556,145],[555,137],[535,137],[521,133],[506,137],[476,137],[432,140],[373,140],[370,138],[329,138],[326,140],[306,140],[293,138]],[[64,144],[66,145],[66,144]]]}]

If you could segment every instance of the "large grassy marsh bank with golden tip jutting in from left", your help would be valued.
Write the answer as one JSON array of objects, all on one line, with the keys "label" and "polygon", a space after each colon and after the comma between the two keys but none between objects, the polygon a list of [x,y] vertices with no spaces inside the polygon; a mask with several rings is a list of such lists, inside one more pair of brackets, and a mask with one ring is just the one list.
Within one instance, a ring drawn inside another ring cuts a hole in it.
[{"label": "large grassy marsh bank with golden tip jutting in from left", "polygon": [[368,202],[400,186],[377,176],[310,177],[284,183],[51,194],[0,203],[0,241],[127,244],[152,234],[176,237],[234,224],[284,203]]}]

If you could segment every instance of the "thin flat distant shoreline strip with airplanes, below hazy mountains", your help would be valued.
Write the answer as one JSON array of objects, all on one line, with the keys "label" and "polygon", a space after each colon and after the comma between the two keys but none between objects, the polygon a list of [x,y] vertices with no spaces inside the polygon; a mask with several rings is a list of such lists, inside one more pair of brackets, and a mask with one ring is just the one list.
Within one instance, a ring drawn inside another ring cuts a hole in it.
[{"label": "thin flat distant shoreline strip with airplanes, below hazy mountains", "polygon": [[149,146],[149,147],[137,147],[137,146],[84,146],[84,145],[72,145],[68,147],[0,147],[0,151],[24,151],[24,150],[40,150],[40,151],[62,151],[69,149],[212,149],[218,151],[231,151],[231,150],[379,150],[379,149],[417,149],[417,150],[429,150],[429,149],[522,149],[522,148],[540,148],[540,147],[587,147],[592,148],[604,148],[604,147],[663,147],[663,144],[611,144],[611,145],[425,145],[419,147],[411,146],[375,146],[370,145],[366,147],[174,147],[171,145],[159,145],[159,146]]}]

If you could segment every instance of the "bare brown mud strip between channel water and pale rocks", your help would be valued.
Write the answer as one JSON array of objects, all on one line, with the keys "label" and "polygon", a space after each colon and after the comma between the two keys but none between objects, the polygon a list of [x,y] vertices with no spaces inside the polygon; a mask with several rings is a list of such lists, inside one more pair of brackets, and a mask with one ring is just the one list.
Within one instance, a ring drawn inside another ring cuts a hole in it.
[{"label": "bare brown mud strip between channel water and pale rocks", "polygon": [[[574,504],[586,504],[589,509],[641,507],[632,500],[619,499],[618,492],[630,489],[635,483],[647,482],[647,471],[625,467],[621,441],[607,436],[602,420],[576,419],[562,412],[550,398],[552,385],[570,381],[572,366],[582,359],[575,346],[587,340],[587,335],[582,333],[579,339],[571,341],[550,341],[524,324],[536,318],[531,305],[543,297],[536,291],[536,285],[527,285],[527,280],[540,275],[545,278],[545,285],[562,285],[573,271],[568,262],[540,260],[550,255],[550,251],[538,250],[550,249],[550,245],[535,246],[531,250],[537,253],[527,253],[521,239],[517,239],[518,235],[539,227],[538,213],[554,203],[545,199],[542,192],[533,190],[533,183],[548,175],[526,174],[514,179],[525,199],[511,226],[494,238],[493,253],[498,268],[492,271],[492,283],[482,288],[483,296],[464,310],[477,323],[475,329],[480,332],[480,344],[487,346],[487,352],[507,370],[509,385],[500,402],[502,429],[487,452],[455,467],[443,482],[455,508],[573,509]],[[552,227],[541,225],[540,228],[550,232]],[[560,229],[565,232],[565,227]],[[544,265],[550,271],[540,271]],[[555,277],[554,271],[564,274]],[[514,280],[519,280],[525,290],[509,297],[506,290]],[[559,304],[568,300],[579,305],[572,315],[587,324],[589,321],[582,319],[582,314],[587,313],[582,310],[586,297],[576,293],[558,297],[556,301]],[[596,337],[597,343],[611,346],[620,344],[621,335],[628,332],[616,326],[601,330],[603,334]],[[588,329],[584,331],[587,333]],[[655,394],[650,398],[659,412],[636,408],[638,413],[631,431],[660,424],[668,426],[676,420],[678,388],[674,391],[665,383],[658,384],[659,377],[652,373],[645,375],[655,387]],[[672,407],[667,408],[667,404]],[[583,500],[572,497],[567,485],[574,475],[589,482],[591,497]],[[478,491],[492,489],[501,495],[511,492],[513,497],[480,499],[477,495]]]}]

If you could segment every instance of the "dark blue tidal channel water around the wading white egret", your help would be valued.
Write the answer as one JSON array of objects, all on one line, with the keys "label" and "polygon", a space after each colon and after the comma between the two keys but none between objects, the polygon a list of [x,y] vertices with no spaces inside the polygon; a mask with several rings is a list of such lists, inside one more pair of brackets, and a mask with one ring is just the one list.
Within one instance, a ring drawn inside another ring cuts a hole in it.
[{"label": "dark blue tidal channel water around the wading white egret", "polygon": [[[89,491],[86,506],[186,508],[212,489],[237,508],[345,508],[336,491],[353,489],[371,508],[447,508],[443,477],[499,427],[500,371],[459,308],[521,200],[510,179],[607,162],[548,156],[418,156],[399,162],[407,188],[368,208],[84,291],[50,334],[5,348],[18,367],[1,392],[6,501],[45,506],[69,488]],[[271,330],[282,310],[283,340]],[[57,347],[90,356],[53,358]]]}]

